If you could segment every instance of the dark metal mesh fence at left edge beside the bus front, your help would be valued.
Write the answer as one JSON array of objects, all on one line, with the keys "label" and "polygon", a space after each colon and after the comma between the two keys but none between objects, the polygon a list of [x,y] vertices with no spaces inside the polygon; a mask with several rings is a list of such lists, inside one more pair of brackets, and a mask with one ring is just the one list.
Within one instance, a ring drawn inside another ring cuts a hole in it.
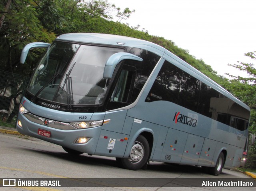
[{"label": "dark metal mesh fence at left edge beside the bus front", "polygon": [[0,70],[0,126],[16,128],[20,101],[29,78]]}]

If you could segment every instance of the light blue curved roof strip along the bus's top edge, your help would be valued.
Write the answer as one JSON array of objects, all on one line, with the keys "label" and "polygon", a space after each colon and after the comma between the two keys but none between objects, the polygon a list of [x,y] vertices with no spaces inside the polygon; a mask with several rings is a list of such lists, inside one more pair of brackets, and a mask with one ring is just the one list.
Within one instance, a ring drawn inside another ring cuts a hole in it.
[{"label": "light blue curved roof strip along the bus's top edge", "polygon": [[[70,33],[70,34],[62,34],[56,38],[56,40],[70,41],[70,42],[78,42],[78,43],[92,43],[92,44],[108,44],[120,47],[134,47],[134,48],[142,48],[144,50],[148,50],[150,52],[154,52],[158,56],[164,57],[166,59],[168,56],[172,57],[183,67],[186,67],[186,71],[188,73],[194,73],[196,76],[199,76],[202,82],[210,85],[218,92],[224,94],[224,96],[229,97],[245,109],[250,111],[250,107],[234,97],[230,92],[222,88],[219,84],[202,74],[196,68],[192,67],[190,64],[186,63],[184,60],[178,58],[178,56],[172,54],[170,51],[166,50],[162,46],[154,44],[152,42],[148,42],[146,40],[140,40],[137,38],[127,37],[127,36],[118,36],[113,34],[99,34],[99,33]],[[164,56],[164,55],[167,55]],[[167,58],[168,60],[168,58]]]}]

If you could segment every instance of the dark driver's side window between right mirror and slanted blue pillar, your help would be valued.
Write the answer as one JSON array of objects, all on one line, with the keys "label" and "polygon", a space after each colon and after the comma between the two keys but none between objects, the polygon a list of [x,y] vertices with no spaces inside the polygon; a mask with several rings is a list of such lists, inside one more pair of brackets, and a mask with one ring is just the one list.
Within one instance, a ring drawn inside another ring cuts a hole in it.
[{"label": "dark driver's side window between right mirror and slanted blue pillar", "polygon": [[133,103],[146,84],[160,56],[140,48],[131,48],[129,53],[143,59],[142,62],[124,60],[116,67],[114,87],[110,92],[107,110],[125,107]]}]

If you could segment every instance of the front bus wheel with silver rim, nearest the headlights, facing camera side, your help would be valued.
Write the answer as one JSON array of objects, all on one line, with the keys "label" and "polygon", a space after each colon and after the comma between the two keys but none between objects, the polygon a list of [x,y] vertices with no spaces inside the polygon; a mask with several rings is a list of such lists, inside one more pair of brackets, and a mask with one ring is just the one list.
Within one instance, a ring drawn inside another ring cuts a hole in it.
[{"label": "front bus wheel with silver rim, nearest the headlights, facing camera side", "polygon": [[149,153],[150,148],[147,139],[144,136],[139,135],[132,144],[129,157],[117,158],[116,161],[125,169],[138,170],[146,165]]}]

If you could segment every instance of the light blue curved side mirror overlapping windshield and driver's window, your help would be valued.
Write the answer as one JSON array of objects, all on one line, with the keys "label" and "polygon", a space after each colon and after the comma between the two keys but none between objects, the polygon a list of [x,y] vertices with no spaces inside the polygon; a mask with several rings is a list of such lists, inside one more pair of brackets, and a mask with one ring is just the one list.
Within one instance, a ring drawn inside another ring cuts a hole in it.
[{"label": "light blue curved side mirror overlapping windshield and driver's window", "polygon": [[108,58],[105,64],[103,78],[112,78],[116,65],[122,60],[136,60],[141,62],[143,59],[127,52],[113,54]]}]

